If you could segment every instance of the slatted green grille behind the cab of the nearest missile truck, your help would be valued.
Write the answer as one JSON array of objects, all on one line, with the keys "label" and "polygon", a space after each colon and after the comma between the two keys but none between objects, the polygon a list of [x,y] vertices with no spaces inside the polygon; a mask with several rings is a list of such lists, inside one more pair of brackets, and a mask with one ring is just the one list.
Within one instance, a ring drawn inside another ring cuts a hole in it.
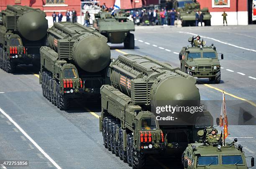
[{"label": "slatted green grille behind the cab of the nearest missile truck", "polygon": [[150,89],[154,81],[131,81],[131,98],[135,104],[150,104]]}]

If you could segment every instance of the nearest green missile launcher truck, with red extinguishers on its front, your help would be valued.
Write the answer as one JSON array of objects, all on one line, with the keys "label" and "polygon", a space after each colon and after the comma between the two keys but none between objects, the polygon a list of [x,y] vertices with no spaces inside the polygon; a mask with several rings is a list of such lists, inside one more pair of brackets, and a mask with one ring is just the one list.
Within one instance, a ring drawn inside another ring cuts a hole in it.
[{"label": "nearest green missile launcher truck, with red extinguishers on its front", "polygon": [[[159,125],[151,110],[159,100],[200,100],[195,78],[166,63],[147,56],[119,55],[110,64],[112,85],[100,89],[102,112],[100,131],[105,148],[133,168],[145,164],[145,154],[166,149],[184,151],[198,140],[205,126]],[[204,124],[212,126],[212,116],[204,111]]]}]

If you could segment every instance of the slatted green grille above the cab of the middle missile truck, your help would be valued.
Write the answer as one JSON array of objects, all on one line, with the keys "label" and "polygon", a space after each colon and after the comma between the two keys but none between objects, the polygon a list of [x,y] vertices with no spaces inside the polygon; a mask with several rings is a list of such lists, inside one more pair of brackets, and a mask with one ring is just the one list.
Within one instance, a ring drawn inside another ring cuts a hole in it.
[{"label": "slatted green grille above the cab of the middle missile truck", "polygon": [[61,42],[61,40],[58,40],[59,58],[72,59],[72,48],[74,43],[75,43],[74,40],[70,40],[70,41],[65,40],[65,42]]}]

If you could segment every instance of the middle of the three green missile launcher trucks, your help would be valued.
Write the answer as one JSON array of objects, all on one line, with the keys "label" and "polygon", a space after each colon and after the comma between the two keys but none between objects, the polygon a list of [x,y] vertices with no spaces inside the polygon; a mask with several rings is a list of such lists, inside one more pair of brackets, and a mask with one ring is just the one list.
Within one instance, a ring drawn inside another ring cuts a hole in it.
[{"label": "middle of the three green missile launcher trucks", "polygon": [[72,98],[100,99],[102,84],[110,84],[110,48],[97,30],[78,23],[54,23],[42,46],[39,82],[43,95],[61,110]]}]

